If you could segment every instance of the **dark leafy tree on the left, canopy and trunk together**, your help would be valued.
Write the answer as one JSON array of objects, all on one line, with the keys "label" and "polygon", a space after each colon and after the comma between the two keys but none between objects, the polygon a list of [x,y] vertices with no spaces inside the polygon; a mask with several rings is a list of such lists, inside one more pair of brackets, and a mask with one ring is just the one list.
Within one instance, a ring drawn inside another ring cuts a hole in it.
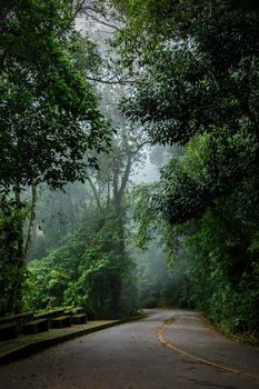
[{"label": "dark leafy tree on the left, canopy and trunk together", "polygon": [[[78,36],[71,23],[80,4],[0,2],[1,315],[21,309],[37,184],[56,189],[83,180],[86,166],[96,164],[97,152],[109,147],[111,129],[72,57]],[[32,187],[32,207],[24,241],[20,193],[27,186]]]}]

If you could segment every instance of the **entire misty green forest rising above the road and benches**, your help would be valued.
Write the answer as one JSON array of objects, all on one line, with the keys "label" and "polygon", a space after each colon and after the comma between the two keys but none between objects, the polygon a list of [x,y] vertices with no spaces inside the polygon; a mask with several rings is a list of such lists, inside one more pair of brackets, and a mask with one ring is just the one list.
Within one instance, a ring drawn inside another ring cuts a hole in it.
[{"label": "entire misty green forest rising above the road and benches", "polygon": [[257,343],[257,2],[40,3],[0,6],[1,315],[191,307]]}]

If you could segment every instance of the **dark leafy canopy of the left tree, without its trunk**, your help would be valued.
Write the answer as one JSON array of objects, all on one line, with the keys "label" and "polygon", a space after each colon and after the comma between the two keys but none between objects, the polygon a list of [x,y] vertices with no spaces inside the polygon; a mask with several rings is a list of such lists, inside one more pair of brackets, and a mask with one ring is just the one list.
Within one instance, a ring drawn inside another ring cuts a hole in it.
[{"label": "dark leafy canopy of the left tree, without its trunk", "polygon": [[71,12],[68,0],[1,2],[1,187],[80,179],[86,151],[109,138],[94,92],[69,58]]}]

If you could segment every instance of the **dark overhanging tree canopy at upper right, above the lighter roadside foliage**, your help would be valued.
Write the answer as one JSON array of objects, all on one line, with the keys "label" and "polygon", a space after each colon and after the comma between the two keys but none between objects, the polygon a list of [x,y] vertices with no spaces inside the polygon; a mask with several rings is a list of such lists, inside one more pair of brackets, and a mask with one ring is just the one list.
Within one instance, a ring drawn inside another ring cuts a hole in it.
[{"label": "dark overhanging tree canopy at upper right, above the lighter roadside foliage", "polygon": [[176,163],[163,174],[162,196],[156,197],[172,223],[186,221],[230,193],[245,177],[258,174],[258,4],[116,3],[128,18],[114,43],[121,63],[130,63],[141,76],[122,104],[126,116],[140,122],[152,142],[185,146],[193,137],[208,136],[202,181],[191,172],[182,174]]}]

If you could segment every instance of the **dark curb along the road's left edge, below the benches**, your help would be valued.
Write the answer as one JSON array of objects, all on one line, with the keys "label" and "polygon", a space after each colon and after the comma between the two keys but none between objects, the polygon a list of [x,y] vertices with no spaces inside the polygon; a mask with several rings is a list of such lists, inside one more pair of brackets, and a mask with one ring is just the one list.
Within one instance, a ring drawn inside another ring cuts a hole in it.
[{"label": "dark curb along the road's left edge, below the benches", "polygon": [[8,365],[11,362],[14,362],[16,360],[28,358],[31,355],[42,351],[49,347],[57,346],[59,343],[62,343],[67,340],[71,340],[74,338],[79,338],[86,335],[90,335],[92,332],[101,331],[111,327],[120,326],[130,321],[135,320],[141,320],[146,318],[146,315],[138,315],[136,317],[129,318],[129,319],[122,319],[122,320],[116,320],[111,321],[104,325],[99,325],[97,327],[86,328],[83,330],[79,330],[76,332],[70,332],[66,335],[61,335],[60,337],[53,337],[50,339],[43,339],[43,340],[37,340],[34,342],[23,345],[14,350],[8,351],[4,355],[0,356],[0,366]]}]

